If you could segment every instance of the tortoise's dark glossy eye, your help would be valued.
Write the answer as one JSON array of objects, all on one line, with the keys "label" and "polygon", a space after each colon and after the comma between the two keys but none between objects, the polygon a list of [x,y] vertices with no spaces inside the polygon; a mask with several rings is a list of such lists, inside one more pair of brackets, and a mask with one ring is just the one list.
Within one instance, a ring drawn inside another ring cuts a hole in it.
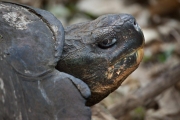
[{"label": "tortoise's dark glossy eye", "polygon": [[116,43],[116,39],[104,39],[103,41],[98,43],[98,46],[102,49],[110,48]]}]

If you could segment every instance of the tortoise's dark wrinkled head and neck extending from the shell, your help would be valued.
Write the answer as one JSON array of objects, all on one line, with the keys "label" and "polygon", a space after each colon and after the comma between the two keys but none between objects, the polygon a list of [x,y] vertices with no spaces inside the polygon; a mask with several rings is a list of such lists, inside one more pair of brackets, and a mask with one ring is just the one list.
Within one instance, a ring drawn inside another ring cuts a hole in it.
[{"label": "tortoise's dark wrinkled head and neck extending from the shell", "polygon": [[104,15],[65,28],[57,69],[82,79],[91,89],[87,105],[98,103],[139,65],[144,36],[133,16]]}]

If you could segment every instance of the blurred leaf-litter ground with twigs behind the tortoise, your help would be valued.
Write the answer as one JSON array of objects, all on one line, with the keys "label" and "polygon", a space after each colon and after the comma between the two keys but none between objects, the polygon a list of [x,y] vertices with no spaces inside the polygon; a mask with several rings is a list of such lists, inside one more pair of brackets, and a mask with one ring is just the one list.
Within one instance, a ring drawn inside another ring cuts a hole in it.
[{"label": "blurred leaf-litter ground with twigs behind the tortoise", "polygon": [[[180,77],[176,77],[180,71],[174,69],[174,67],[180,69],[180,0],[4,1],[48,10],[64,27],[90,21],[103,14],[132,14],[144,32],[144,59],[119,89],[92,107],[92,119],[180,120],[180,82],[178,82]],[[169,78],[172,78],[172,82],[166,82]],[[160,82],[156,82],[158,80]],[[143,96],[144,101],[141,97],[138,98],[137,91],[140,93],[147,91]],[[149,95],[149,91],[153,95]],[[129,107],[128,102],[124,101],[133,95],[138,102],[135,106]]]}]

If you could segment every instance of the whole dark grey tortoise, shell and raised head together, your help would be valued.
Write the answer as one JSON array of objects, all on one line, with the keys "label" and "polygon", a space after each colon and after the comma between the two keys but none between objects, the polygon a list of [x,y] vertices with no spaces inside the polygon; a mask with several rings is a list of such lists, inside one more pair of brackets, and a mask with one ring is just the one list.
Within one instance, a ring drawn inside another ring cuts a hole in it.
[{"label": "whole dark grey tortoise, shell and raised head together", "polygon": [[0,120],[90,120],[92,106],[139,65],[134,17],[63,28],[51,13],[0,2]]}]

